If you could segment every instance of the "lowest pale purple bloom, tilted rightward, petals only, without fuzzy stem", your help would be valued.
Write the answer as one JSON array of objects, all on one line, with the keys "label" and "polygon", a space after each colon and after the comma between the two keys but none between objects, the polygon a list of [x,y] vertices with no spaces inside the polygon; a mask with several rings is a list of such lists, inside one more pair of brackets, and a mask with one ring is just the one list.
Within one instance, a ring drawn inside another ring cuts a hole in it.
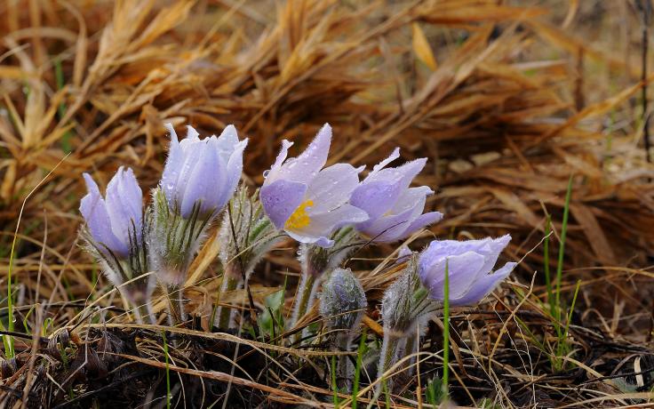
[{"label": "lowest pale purple bloom, tilted rightward, petals only, without fuzzy stem", "polygon": [[447,262],[450,305],[458,307],[476,304],[491,293],[517,264],[507,262],[504,267],[491,273],[499,253],[502,253],[509,241],[509,235],[482,240],[435,240],[420,254],[420,281],[429,290],[430,298],[443,301]]}]

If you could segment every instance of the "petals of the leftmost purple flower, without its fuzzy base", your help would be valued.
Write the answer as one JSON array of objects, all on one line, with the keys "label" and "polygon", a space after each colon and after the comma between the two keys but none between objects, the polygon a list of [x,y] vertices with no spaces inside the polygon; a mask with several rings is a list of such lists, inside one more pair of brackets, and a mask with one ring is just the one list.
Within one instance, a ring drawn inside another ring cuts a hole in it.
[{"label": "petals of the leftmost purple flower, without its fuzzy base", "polygon": [[91,175],[84,173],[89,193],[79,210],[84,216],[96,247],[102,252],[127,258],[134,245],[140,245],[143,225],[143,194],[132,169],[121,166],[107,186],[107,197]]}]

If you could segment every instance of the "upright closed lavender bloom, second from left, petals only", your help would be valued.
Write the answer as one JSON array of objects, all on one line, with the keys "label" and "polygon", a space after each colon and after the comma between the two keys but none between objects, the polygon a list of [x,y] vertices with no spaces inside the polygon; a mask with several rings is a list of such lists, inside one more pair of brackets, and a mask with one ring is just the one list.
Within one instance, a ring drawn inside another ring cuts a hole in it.
[{"label": "upright closed lavender bloom, second from left, petals only", "polygon": [[241,179],[248,140],[238,140],[236,128],[228,125],[218,138],[213,135],[202,140],[187,126],[187,138],[179,141],[172,124],[165,126],[171,132],[171,148],[161,187],[169,207],[187,219],[196,204],[201,218],[215,215]]}]

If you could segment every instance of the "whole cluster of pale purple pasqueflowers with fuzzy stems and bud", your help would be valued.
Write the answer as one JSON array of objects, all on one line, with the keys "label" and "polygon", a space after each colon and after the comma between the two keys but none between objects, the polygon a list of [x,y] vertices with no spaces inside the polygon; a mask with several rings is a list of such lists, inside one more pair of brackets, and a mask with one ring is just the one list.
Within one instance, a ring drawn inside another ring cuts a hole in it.
[{"label": "whole cluster of pale purple pasqueflowers with fuzzy stems and bud", "polygon": [[[121,167],[103,197],[91,176],[84,174],[88,194],[80,211],[89,251],[124,298],[154,320],[150,298],[156,281],[168,293],[179,293],[187,269],[202,245],[206,230],[223,209],[219,232],[222,289],[243,285],[257,262],[283,235],[300,244],[302,277],[291,326],[297,325],[315,300],[327,326],[354,331],[367,303],[358,279],[339,264],[356,245],[394,242],[440,221],[441,213],[423,213],[427,186],[411,188],[426,158],[388,167],[399,148],[375,165],[363,179],[363,166],[324,167],[331,145],[325,124],[304,152],[287,158],[292,142],[282,149],[253,195],[237,193],[247,139],[239,140],[232,125],[220,134],[200,139],[187,127],[179,141],[171,124],[171,147],[159,185],[144,210],[143,194],[131,169]],[[382,304],[385,340],[380,370],[404,348],[403,334],[415,331],[443,303],[448,272],[452,306],[481,301],[514,269],[514,263],[492,273],[509,236],[483,240],[435,240],[421,253],[403,252],[402,276],[387,290]],[[322,291],[321,291],[322,288]],[[172,304],[172,303],[171,303]],[[183,319],[183,305],[171,306],[171,317]],[[348,315],[349,314],[349,315]],[[338,318],[332,318],[338,317]],[[231,311],[223,309],[213,323],[229,326]],[[395,340],[395,341],[394,341]],[[348,348],[350,335],[334,342]],[[406,349],[406,348],[404,348]],[[347,371],[346,371],[347,372]]]}]

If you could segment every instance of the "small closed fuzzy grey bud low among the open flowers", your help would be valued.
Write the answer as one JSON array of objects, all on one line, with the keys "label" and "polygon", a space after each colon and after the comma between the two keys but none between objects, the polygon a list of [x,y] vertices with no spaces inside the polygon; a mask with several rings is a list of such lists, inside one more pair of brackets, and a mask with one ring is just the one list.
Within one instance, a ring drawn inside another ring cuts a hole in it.
[{"label": "small closed fuzzy grey bud low among the open flowers", "polygon": [[367,302],[359,280],[350,269],[334,269],[323,283],[320,314],[332,329],[354,330]]}]

